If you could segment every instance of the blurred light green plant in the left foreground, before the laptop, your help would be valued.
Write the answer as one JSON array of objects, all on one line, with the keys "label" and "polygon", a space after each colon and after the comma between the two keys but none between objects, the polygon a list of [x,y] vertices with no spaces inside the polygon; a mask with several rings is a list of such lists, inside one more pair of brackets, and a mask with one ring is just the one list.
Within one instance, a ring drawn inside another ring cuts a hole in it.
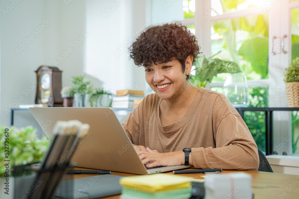
[{"label": "blurred light green plant in the left foreground, before the laptop", "polygon": [[[0,126],[0,141],[0,151],[3,152],[3,155],[0,156],[0,188],[2,190],[0,198],[9,198],[10,196],[13,198],[14,178],[12,167],[41,161],[44,153],[48,150],[50,142],[45,134],[42,138],[38,138],[37,130],[32,127],[10,127],[8,129],[2,126]],[[4,154],[5,150],[7,150],[7,156]],[[4,163],[9,164],[8,172]],[[7,179],[9,195],[4,193],[4,183]]]}]

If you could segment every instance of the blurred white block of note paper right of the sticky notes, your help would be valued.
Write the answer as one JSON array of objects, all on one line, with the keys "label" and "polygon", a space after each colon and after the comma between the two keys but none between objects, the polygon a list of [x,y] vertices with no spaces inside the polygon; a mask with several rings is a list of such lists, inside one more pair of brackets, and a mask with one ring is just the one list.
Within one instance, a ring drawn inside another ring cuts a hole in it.
[{"label": "blurred white block of note paper right of the sticky notes", "polygon": [[205,176],[205,199],[253,198],[251,191],[251,175],[247,173],[207,173]]}]

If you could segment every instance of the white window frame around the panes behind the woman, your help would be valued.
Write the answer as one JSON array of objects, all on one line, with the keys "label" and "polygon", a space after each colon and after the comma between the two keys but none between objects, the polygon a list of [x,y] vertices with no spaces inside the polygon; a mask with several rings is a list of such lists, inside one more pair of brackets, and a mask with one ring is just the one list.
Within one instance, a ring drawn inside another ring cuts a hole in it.
[{"label": "white window frame around the panes behind the woman", "polygon": [[[209,57],[211,55],[211,24],[212,21],[225,20],[231,18],[239,18],[251,15],[269,15],[269,70],[268,79],[262,80],[248,80],[248,87],[268,87],[269,88],[269,107],[288,107],[285,84],[283,82],[283,72],[289,65],[291,60],[291,10],[299,8],[299,1],[289,0],[276,0],[274,4],[269,7],[263,7],[260,9],[242,10],[232,13],[224,13],[218,16],[211,16],[211,0],[199,0],[195,3],[195,16],[194,18],[182,20],[183,24],[194,24],[195,34],[201,46],[203,55]],[[284,49],[287,53],[272,54],[272,38],[282,38],[287,35]],[[224,82],[212,82],[207,84],[207,88],[211,87],[223,87]],[[279,112],[273,115],[273,129],[274,131],[274,143],[273,146],[279,146],[283,138],[291,138],[291,125],[290,125],[291,113]],[[279,154],[286,151],[288,154],[292,154],[292,144],[283,146]]]}]

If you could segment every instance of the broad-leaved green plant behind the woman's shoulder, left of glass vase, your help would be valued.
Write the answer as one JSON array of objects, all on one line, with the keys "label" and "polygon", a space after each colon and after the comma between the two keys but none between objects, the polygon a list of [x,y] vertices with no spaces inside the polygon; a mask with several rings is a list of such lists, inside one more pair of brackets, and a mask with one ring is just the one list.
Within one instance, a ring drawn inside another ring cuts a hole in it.
[{"label": "broad-leaved green plant behind the woman's shoulder, left of glass vase", "polygon": [[217,76],[218,73],[238,73],[242,72],[235,62],[225,61],[219,58],[214,58],[217,54],[205,58],[205,55],[199,56],[195,65],[195,75],[192,76],[190,82],[196,87],[205,87],[206,84],[212,81],[214,76]]}]

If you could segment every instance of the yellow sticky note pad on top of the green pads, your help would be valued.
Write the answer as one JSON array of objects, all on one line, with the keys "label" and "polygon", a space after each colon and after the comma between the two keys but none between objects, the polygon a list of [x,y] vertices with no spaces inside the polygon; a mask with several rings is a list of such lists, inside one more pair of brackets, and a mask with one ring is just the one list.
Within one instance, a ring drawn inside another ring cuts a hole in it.
[{"label": "yellow sticky note pad on top of the green pads", "polygon": [[139,191],[160,192],[190,188],[192,180],[190,177],[157,173],[120,178],[120,184]]}]

